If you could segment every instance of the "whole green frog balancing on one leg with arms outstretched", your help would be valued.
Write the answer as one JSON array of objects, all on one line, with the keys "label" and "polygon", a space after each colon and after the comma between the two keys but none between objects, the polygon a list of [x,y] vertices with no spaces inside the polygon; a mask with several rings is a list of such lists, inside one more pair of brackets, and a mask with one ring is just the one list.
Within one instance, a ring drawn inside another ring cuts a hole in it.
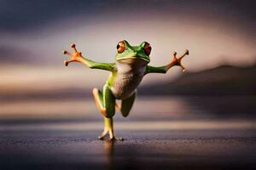
[{"label": "whole green frog balancing on one leg with arms outstretched", "polygon": [[141,42],[137,46],[131,46],[126,40],[118,42],[117,54],[112,63],[96,62],[84,57],[75,44],[71,44],[71,48],[73,48],[73,53],[63,51],[63,54],[71,57],[69,60],[64,60],[66,66],[72,62],[79,62],[90,69],[110,71],[103,88],[92,89],[96,108],[104,119],[104,128],[98,136],[101,140],[106,136],[109,140],[123,140],[123,138],[117,138],[113,132],[113,116],[116,110],[119,110],[124,117],[129,116],[137,96],[137,87],[143,81],[144,76],[149,73],[166,74],[173,66],[180,66],[185,71],[181,61],[184,56],[189,55],[188,49],[185,49],[180,57],[177,57],[177,52],[173,52],[172,60],[167,65],[152,66],[149,65],[152,48],[148,42]]}]

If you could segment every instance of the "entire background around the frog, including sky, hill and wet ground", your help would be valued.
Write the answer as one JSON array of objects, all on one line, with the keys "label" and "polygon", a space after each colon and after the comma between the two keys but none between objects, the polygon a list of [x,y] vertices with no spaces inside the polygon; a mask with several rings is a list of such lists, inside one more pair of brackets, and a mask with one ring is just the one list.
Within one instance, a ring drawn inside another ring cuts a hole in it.
[{"label": "entire background around the frog, including sky, hill and wet ground", "polygon": [[[253,0],[0,0],[0,169],[256,169],[255,8]],[[149,42],[154,66],[188,48],[186,71],[144,77],[130,115],[114,116],[125,141],[99,141],[91,90],[109,72],[66,67],[62,51],[75,43],[88,59],[113,62],[124,39]]]}]

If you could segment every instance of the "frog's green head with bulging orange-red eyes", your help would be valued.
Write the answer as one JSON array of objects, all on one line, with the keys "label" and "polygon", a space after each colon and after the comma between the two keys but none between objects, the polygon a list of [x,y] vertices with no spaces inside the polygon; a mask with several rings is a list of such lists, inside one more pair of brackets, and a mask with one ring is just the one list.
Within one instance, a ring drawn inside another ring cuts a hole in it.
[{"label": "frog's green head with bulging orange-red eyes", "polygon": [[115,59],[120,62],[130,61],[137,62],[137,60],[149,63],[149,54],[151,46],[148,42],[142,42],[139,46],[131,46],[127,41],[121,41],[117,45],[118,54]]}]

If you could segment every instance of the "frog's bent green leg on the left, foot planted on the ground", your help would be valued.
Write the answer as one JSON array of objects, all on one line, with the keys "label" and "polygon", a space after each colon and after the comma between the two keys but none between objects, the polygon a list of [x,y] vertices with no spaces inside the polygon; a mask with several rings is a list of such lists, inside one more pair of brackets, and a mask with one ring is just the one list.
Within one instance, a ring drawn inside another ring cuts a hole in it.
[{"label": "frog's bent green leg on the left, foot planted on the ground", "polygon": [[94,88],[92,94],[96,101],[96,107],[101,111],[104,116],[104,130],[98,139],[104,139],[108,134],[110,140],[115,140],[115,135],[113,133],[113,116],[115,113],[115,98],[108,86],[104,85],[103,92]]}]

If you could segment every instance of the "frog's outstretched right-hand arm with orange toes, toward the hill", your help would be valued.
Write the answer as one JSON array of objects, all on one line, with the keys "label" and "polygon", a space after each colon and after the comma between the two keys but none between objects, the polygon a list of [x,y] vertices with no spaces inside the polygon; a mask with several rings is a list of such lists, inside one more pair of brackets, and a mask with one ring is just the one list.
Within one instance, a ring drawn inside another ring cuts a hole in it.
[{"label": "frog's outstretched right-hand arm with orange toes, toward the hill", "polygon": [[160,67],[154,67],[154,66],[147,65],[147,70],[146,70],[145,74],[148,74],[148,73],[166,73],[170,68],[172,68],[172,66],[175,66],[175,65],[182,67],[183,71],[185,71],[185,68],[181,64],[181,60],[183,59],[183,57],[185,55],[189,55],[189,50],[186,49],[185,53],[181,57],[179,57],[178,59],[176,57],[176,54],[177,54],[176,52],[173,53],[172,62],[169,63],[168,65],[164,65],[164,66],[160,66]]}]

